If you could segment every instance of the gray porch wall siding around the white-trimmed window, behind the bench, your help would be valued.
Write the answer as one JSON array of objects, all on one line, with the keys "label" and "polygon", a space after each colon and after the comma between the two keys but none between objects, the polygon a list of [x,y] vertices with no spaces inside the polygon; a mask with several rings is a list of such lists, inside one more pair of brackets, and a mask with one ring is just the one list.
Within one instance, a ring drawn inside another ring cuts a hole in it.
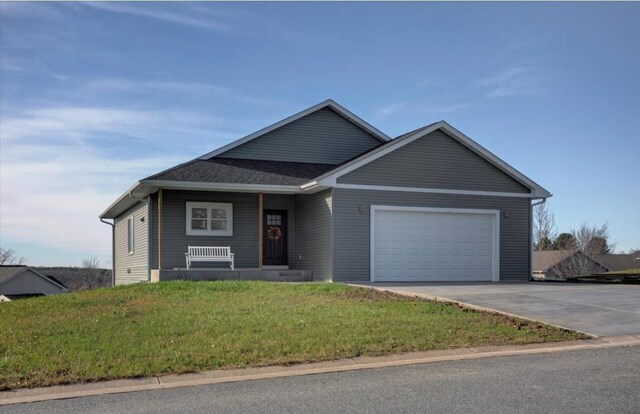
[{"label": "gray porch wall siding around the white-trimmed window, behind the bench", "polygon": [[[189,236],[186,202],[233,204],[233,236]],[[185,268],[188,246],[230,246],[236,267],[258,267],[258,194],[164,190],[162,268]],[[228,263],[197,262],[193,267],[228,268]]]}]

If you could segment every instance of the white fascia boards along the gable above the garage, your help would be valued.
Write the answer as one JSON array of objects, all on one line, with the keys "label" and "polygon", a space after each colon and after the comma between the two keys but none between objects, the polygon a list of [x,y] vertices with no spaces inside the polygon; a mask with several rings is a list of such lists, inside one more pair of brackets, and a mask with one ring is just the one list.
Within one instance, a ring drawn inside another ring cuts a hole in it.
[{"label": "white fascia boards along the gable above the garage", "polygon": [[318,185],[326,185],[326,186],[336,186],[337,179],[349,172],[356,170],[372,161],[381,158],[390,152],[397,150],[398,148],[402,148],[403,146],[412,143],[413,141],[422,138],[425,135],[428,135],[438,129],[442,129],[452,138],[471,149],[473,152],[489,161],[491,164],[505,172],[507,175],[515,179],[516,181],[522,183],[525,187],[531,190],[531,194],[528,194],[529,197],[537,197],[537,198],[549,198],[551,197],[551,193],[542,188],[540,185],[536,184],[531,179],[524,176],[522,173],[517,171],[515,168],[511,167],[509,164],[498,158],[496,155],[482,147],[477,142],[473,141],[471,138],[464,135],[462,132],[458,131],[445,121],[439,121],[435,124],[431,125],[429,128],[416,132],[414,135],[408,135],[403,138],[399,138],[396,142],[390,143],[387,146],[379,148],[378,150],[374,150],[368,154],[363,155],[361,158],[356,158],[355,160],[339,167],[337,170],[330,171],[316,179]]}]

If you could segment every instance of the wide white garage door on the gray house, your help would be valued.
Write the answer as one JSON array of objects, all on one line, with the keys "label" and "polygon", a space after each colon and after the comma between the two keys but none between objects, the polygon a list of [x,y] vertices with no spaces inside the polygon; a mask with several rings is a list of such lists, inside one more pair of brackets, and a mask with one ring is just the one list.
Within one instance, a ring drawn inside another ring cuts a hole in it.
[{"label": "wide white garage door on the gray house", "polygon": [[497,281],[496,210],[371,206],[371,280]]}]

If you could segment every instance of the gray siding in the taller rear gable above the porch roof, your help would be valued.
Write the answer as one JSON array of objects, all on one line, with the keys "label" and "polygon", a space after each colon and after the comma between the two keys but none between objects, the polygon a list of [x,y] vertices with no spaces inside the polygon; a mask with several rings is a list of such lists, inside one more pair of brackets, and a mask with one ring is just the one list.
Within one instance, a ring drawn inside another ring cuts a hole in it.
[{"label": "gray siding in the taller rear gable above the porch roof", "polygon": [[323,108],[218,156],[338,164],[380,144],[362,128]]}]

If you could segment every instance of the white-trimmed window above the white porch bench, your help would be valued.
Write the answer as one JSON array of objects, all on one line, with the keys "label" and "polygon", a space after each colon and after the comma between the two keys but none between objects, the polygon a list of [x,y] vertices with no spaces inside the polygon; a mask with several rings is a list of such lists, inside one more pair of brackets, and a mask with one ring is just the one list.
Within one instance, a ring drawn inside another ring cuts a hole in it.
[{"label": "white-trimmed window above the white porch bench", "polygon": [[187,235],[233,236],[233,204],[187,201]]}]

